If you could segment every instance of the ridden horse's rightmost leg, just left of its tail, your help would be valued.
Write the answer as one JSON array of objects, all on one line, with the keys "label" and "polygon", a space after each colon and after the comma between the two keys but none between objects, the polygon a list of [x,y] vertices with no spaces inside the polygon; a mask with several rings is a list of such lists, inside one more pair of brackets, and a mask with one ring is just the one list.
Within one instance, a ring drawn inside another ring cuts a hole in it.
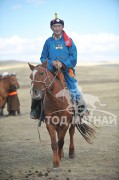
[{"label": "ridden horse's rightmost leg, just left of its tail", "polygon": [[75,133],[75,126],[71,124],[69,128],[69,135],[70,135],[70,145],[69,145],[69,157],[74,158],[74,133]]}]

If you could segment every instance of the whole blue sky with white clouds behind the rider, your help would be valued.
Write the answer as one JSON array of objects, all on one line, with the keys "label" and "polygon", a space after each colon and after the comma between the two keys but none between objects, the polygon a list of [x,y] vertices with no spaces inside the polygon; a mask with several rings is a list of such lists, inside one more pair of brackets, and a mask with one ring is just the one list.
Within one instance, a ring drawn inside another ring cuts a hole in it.
[{"label": "whole blue sky with white clouds behind the rider", "polygon": [[55,12],[79,64],[119,61],[119,0],[0,0],[0,60],[39,62]]}]

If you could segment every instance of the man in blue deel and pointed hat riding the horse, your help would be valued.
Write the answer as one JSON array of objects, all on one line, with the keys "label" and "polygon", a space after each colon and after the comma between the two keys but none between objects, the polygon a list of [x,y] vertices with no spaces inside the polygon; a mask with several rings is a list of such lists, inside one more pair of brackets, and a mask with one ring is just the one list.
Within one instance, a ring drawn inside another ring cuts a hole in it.
[{"label": "man in blue deel and pointed hat riding the horse", "polygon": [[[52,73],[55,74],[57,70],[63,73],[72,100],[79,109],[79,116],[88,115],[87,105],[78,90],[78,82],[75,79],[74,67],[77,64],[77,48],[73,40],[63,30],[64,21],[59,19],[57,14],[55,14],[55,19],[50,22],[50,28],[53,31],[53,35],[45,41],[40,60],[43,63],[48,59],[47,68]],[[38,119],[40,117],[41,101],[32,99],[30,113],[32,119]]]}]

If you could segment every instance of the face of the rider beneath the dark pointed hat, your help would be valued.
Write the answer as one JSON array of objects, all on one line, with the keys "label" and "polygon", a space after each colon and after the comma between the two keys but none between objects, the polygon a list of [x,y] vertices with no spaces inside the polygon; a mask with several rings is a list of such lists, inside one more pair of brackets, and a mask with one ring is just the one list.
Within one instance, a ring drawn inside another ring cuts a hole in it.
[{"label": "face of the rider beneath the dark pointed hat", "polygon": [[62,24],[58,24],[58,23],[52,25],[52,27],[51,27],[51,29],[52,29],[54,35],[56,35],[56,36],[59,36],[59,35],[62,34],[63,28],[64,28],[64,26],[63,26]]}]

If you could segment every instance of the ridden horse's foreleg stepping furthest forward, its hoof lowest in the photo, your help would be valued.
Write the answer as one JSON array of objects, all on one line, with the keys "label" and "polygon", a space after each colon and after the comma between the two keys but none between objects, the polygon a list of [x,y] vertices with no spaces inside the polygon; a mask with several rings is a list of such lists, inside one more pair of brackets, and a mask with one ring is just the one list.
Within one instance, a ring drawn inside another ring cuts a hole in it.
[{"label": "ridden horse's foreleg stepping furthest forward, its hoof lowest in the photo", "polygon": [[56,130],[55,130],[55,126],[51,125],[51,124],[46,124],[46,127],[48,129],[50,138],[51,138],[51,148],[53,151],[53,166],[54,168],[59,167],[59,156],[58,156],[58,144],[57,144],[57,140],[56,140]]}]

